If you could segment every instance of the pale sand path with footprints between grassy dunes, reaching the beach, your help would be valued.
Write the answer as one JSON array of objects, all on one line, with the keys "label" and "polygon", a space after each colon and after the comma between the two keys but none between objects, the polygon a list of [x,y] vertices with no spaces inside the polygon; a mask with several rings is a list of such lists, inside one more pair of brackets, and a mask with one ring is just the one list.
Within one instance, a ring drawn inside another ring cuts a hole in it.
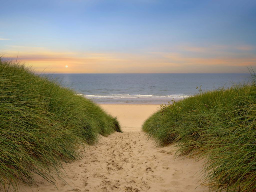
[{"label": "pale sand path with footprints between grassy dunes, reaching the beach", "polygon": [[172,146],[157,148],[140,127],[159,105],[101,105],[118,116],[124,133],[102,137],[84,157],[64,165],[68,178],[56,188],[43,179],[22,191],[209,191],[195,181],[203,161],[178,157]]}]

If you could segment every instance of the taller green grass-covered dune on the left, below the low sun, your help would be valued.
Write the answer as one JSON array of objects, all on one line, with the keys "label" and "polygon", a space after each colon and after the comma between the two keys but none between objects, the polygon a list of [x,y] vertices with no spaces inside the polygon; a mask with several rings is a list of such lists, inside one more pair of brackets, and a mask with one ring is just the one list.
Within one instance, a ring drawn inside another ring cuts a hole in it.
[{"label": "taller green grass-covered dune on the left, below the low sun", "polygon": [[33,183],[33,174],[54,183],[63,161],[114,131],[118,121],[97,104],[0,58],[0,191]]}]

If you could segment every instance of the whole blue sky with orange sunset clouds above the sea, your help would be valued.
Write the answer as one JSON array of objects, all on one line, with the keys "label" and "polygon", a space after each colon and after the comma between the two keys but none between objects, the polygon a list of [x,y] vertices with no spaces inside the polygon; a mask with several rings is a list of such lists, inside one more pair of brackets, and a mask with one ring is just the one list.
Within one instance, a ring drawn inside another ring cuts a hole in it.
[{"label": "whole blue sky with orange sunset clouds above the sea", "polygon": [[39,73],[248,73],[255,10],[255,0],[1,1],[0,55]]}]

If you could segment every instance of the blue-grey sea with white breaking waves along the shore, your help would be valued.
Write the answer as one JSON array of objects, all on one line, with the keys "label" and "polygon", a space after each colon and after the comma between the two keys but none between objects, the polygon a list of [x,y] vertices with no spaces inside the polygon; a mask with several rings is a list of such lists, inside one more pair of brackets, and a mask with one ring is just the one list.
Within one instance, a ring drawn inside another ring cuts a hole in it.
[{"label": "blue-grey sea with white breaking waves along the shore", "polygon": [[202,90],[247,82],[250,74],[51,74],[64,87],[97,103],[161,104]]}]

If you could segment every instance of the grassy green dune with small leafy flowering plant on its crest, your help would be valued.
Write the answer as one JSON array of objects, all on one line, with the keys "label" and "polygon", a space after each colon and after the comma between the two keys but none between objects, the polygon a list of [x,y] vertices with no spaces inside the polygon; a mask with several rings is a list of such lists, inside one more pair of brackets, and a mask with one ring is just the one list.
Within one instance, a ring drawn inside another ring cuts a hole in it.
[{"label": "grassy green dune with small leafy flowering plant on its crest", "polygon": [[213,190],[256,191],[256,78],[229,89],[200,92],[148,118],[143,130],[176,155],[205,157]]}]

